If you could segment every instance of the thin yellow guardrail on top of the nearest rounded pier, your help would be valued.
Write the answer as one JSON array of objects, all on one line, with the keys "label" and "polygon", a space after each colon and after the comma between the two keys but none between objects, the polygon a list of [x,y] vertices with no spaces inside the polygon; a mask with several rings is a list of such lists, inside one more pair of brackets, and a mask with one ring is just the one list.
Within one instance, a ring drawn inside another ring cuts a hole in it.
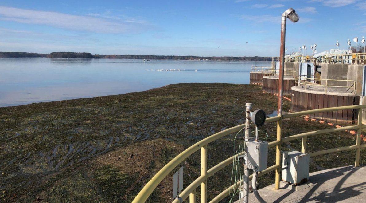
[{"label": "thin yellow guardrail on top of the nearest rounded pier", "polygon": [[[297,86],[304,85],[305,90],[306,90],[307,86],[311,85],[311,86],[325,87],[325,89],[324,89],[325,92],[328,91],[328,87],[346,88],[346,92],[348,92],[348,90],[350,90],[350,89],[353,89],[353,91],[351,91],[351,93],[355,93],[355,91],[356,91],[356,81],[354,81],[354,80],[321,79],[321,78],[316,78],[317,76],[320,76],[320,75],[297,75],[295,77],[295,84]],[[351,86],[328,85],[328,81],[341,81],[341,82],[346,82],[346,84],[348,84],[348,82],[351,82],[351,83],[353,83],[353,85],[351,85]],[[317,83],[317,82],[319,82],[319,83]]]}]

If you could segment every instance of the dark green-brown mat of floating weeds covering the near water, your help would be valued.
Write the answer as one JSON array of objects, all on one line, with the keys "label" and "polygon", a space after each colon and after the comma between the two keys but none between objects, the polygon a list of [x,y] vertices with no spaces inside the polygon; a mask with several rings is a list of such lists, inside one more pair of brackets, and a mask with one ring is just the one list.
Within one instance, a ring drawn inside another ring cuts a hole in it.
[{"label": "dark green-brown mat of floating weeds covering the near water", "polygon": [[[1,202],[131,202],[143,185],[174,156],[213,133],[245,122],[245,103],[267,114],[277,97],[261,86],[175,84],[145,92],[0,108]],[[290,102],[284,100],[284,110]],[[284,136],[330,128],[317,122],[284,121]],[[275,140],[275,123],[261,130]],[[209,168],[232,156],[233,137],[208,147]],[[238,142],[242,140],[238,139]],[[308,150],[346,146],[346,132],[308,139]],[[301,148],[301,140],[283,151]],[[361,164],[365,163],[361,151]],[[275,150],[269,150],[269,165]],[[354,151],[315,157],[311,171],[354,163]],[[199,152],[185,162],[184,186],[199,176]],[[209,199],[229,187],[231,166],[208,180]],[[274,173],[259,178],[272,184]],[[172,176],[150,202],[171,200]],[[199,190],[198,190],[199,191]],[[199,196],[199,195],[198,195]]]}]

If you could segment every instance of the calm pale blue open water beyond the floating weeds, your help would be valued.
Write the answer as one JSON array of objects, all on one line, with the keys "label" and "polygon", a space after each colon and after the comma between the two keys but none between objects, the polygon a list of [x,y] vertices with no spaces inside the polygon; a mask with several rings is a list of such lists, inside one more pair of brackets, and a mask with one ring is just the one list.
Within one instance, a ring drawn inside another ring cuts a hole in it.
[{"label": "calm pale blue open water beyond the floating weeds", "polygon": [[183,82],[249,84],[251,65],[270,66],[270,62],[0,58],[0,107],[116,95]]}]

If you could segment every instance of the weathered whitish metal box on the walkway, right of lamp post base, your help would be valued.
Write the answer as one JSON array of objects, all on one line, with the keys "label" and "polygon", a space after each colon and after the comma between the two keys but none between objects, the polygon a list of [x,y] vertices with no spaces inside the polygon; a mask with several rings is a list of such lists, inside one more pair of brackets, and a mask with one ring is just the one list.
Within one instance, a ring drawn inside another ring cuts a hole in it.
[{"label": "weathered whitish metal box on the walkway, right of lamp post base", "polygon": [[309,154],[287,151],[282,155],[282,180],[299,185],[309,180]]}]

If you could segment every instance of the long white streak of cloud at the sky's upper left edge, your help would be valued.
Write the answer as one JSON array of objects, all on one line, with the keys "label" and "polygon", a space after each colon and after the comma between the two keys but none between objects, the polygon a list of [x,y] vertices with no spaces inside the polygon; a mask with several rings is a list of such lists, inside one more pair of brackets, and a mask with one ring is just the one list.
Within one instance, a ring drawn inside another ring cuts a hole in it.
[{"label": "long white streak of cloud at the sky's upper left edge", "polygon": [[36,11],[0,6],[0,20],[27,24],[49,25],[71,30],[95,33],[138,33],[152,26],[145,21],[131,19],[107,19],[94,16],[70,15],[59,12]]}]

